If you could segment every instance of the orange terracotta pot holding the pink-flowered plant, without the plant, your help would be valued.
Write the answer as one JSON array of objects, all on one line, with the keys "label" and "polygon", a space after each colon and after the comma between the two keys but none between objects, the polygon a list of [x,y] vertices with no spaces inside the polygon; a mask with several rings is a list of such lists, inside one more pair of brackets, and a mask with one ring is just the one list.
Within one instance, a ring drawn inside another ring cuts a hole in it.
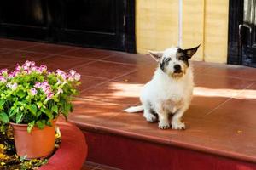
[{"label": "orange terracotta pot holding the pink-flowered plant, without the plant", "polygon": [[34,127],[31,133],[27,133],[26,124],[10,123],[14,129],[17,155],[26,159],[49,156],[55,149],[55,123],[53,120],[53,126],[45,126],[44,129]]}]

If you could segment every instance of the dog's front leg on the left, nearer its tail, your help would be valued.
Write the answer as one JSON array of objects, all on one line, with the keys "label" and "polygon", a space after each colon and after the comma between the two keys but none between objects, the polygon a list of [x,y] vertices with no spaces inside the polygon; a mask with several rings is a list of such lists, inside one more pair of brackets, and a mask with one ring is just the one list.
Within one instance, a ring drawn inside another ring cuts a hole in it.
[{"label": "dog's front leg on the left, nearer its tail", "polygon": [[169,114],[164,110],[163,105],[156,105],[156,112],[159,116],[158,127],[161,129],[170,128]]}]

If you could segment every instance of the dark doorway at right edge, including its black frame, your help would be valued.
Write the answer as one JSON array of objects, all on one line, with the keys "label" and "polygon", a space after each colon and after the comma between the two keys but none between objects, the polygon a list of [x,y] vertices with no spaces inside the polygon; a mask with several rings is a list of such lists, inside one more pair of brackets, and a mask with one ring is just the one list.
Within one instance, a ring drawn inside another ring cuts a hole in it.
[{"label": "dark doorway at right edge, including its black frame", "polygon": [[228,63],[256,67],[256,0],[230,0]]}]

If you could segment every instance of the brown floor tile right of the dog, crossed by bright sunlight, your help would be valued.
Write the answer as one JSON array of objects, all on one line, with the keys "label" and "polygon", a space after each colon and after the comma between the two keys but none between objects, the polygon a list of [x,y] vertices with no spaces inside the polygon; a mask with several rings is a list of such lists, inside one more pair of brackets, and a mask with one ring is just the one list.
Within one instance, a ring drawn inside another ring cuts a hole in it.
[{"label": "brown floor tile right of the dog, crossed by bright sunlight", "polygon": [[195,76],[194,97],[187,116],[202,117],[221,105],[226,100],[240,94],[253,81],[233,77]]}]

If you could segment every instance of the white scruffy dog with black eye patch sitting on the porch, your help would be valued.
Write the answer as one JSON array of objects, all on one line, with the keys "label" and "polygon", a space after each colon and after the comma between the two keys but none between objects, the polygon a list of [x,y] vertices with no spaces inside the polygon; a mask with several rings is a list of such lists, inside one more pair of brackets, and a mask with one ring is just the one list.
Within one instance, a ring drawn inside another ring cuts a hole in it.
[{"label": "white scruffy dog with black eye patch sitting on the porch", "polygon": [[[200,46],[200,45],[199,45]],[[169,115],[172,114],[172,129],[185,129],[181,118],[189,108],[193,95],[193,71],[189,59],[197,48],[167,48],[163,52],[149,54],[159,61],[154,77],[143,87],[140,100],[142,105],[126,109],[126,112],[143,111],[148,122],[155,122],[159,117],[159,127],[170,127]]]}]

